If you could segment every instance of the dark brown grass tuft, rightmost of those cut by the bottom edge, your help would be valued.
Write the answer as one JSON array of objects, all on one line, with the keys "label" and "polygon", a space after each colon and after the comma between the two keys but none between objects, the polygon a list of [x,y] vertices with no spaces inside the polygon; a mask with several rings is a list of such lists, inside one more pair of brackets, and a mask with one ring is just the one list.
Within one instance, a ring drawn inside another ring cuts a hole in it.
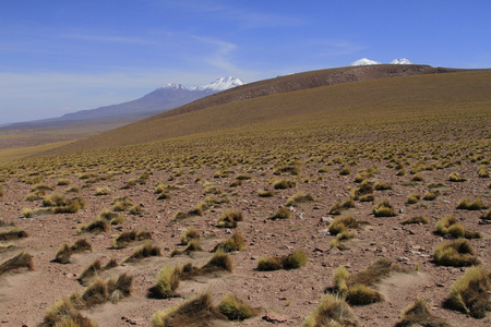
[{"label": "dark brown grass tuft, rightmost of those cut by the bottom edge", "polygon": [[446,320],[431,314],[428,303],[422,299],[417,299],[411,305],[400,314],[400,322],[396,327],[428,326],[428,327],[451,327]]}]

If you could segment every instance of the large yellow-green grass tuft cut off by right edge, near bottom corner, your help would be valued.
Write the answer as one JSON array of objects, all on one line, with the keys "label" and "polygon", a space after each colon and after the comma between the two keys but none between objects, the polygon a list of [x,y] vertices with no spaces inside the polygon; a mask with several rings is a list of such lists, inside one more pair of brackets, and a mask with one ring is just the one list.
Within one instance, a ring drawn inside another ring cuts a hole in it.
[{"label": "large yellow-green grass tuft cut off by right edge, near bottom corner", "polygon": [[491,311],[491,271],[482,266],[470,267],[451,289],[446,304],[482,319]]}]

